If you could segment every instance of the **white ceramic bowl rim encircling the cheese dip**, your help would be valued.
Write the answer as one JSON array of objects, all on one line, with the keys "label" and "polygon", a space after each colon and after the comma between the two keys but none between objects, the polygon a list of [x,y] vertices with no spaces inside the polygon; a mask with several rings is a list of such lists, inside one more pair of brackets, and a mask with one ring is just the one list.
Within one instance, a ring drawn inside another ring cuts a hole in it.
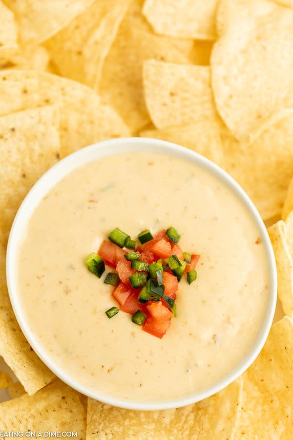
[{"label": "white ceramic bowl rim encircling the cheese dip", "polygon": [[[25,317],[22,313],[21,305],[19,302],[19,292],[16,282],[16,256],[19,249],[19,242],[21,239],[23,228],[27,224],[27,221],[32,216],[32,213],[39,205],[42,198],[59,180],[63,179],[64,176],[68,175],[76,168],[92,160],[99,159],[103,156],[129,151],[149,151],[176,156],[188,160],[190,163],[194,163],[216,176],[220,181],[223,182],[223,184],[227,185],[233,191],[233,193],[242,201],[246,209],[250,212],[251,217],[253,218],[259,229],[260,237],[264,242],[269,265],[270,288],[268,306],[261,330],[253,346],[251,347],[250,352],[239,362],[236,368],[231,370],[229,374],[227,374],[221,380],[218,380],[211,387],[201,392],[194,393],[193,395],[188,397],[177,398],[168,401],[137,403],[117,399],[112,396],[101,395],[98,391],[84,387],[79,383],[78,380],[73,379],[68,374],[65,374],[57,365],[55,365],[54,361],[50,358],[50,355],[45,352],[43,347],[41,347],[36,342],[34,334],[29,329],[29,325],[26,322]],[[261,351],[272,325],[272,319],[277,298],[276,266],[271,242],[259,213],[257,212],[255,206],[252,204],[250,198],[243,191],[243,189],[221,168],[219,168],[217,165],[213,164],[200,154],[194,153],[191,150],[172,144],[170,142],[141,137],[112,139],[90,145],[89,147],[79,150],[76,153],[70,154],[59,163],[57,163],[55,166],[53,166],[49,171],[47,171],[23,200],[21,207],[16,215],[9,236],[6,271],[9,296],[17,320],[32,348],[40,356],[40,358],[48,366],[48,368],[52,370],[58,377],[60,377],[63,382],[67,383],[72,388],[80,391],[84,395],[90,396],[113,406],[137,410],[163,410],[167,408],[175,408],[188,405],[189,403],[194,403],[206,397],[209,397],[229,385],[251,365],[258,353]]]}]

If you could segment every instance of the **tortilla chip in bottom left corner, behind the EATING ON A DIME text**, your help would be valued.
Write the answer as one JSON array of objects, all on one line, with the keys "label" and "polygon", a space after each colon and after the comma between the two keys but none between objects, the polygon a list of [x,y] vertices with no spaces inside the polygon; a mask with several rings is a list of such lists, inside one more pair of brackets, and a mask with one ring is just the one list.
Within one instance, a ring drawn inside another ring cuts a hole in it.
[{"label": "tortilla chip in bottom left corner, behind the EATING ON A DIME text", "polygon": [[[16,417],[17,416],[17,417]],[[85,439],[86,414],[79,393],[60,380],[33,396],[21,397],[0,404],[0,431],[77,432]]]}]

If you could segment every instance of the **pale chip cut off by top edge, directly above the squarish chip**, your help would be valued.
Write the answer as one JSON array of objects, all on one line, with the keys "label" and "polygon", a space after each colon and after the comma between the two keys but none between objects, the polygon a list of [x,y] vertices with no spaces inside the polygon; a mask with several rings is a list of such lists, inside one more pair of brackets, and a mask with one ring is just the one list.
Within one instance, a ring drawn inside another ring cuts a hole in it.
[{"label": "pale chip cut off by top edge, directly above the squarish chip", "polygon": [[143,13],[157,34],[215,40],[218,0],[146,0]]}]

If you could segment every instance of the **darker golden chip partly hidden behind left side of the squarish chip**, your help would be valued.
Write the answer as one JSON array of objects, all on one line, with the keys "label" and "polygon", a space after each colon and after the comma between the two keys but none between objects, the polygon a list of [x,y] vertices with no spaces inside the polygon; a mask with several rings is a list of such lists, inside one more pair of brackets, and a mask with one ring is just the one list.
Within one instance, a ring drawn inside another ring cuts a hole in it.
[{"label": "darker golden chip partly hidden behind left side of the squarish chip", "polygon": [[153,35],[126,14],[105,59],[99,92],[124,118],[132,133],[150,122],[144,101],[142,66],[149,58],[188,63],[169,38]]}]

